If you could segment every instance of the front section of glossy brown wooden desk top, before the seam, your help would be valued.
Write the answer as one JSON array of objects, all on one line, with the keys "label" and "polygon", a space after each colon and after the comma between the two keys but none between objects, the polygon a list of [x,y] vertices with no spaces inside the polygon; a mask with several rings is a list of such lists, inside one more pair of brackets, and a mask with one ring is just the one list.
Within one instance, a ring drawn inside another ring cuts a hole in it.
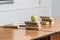
[{"label": "front section of glossy brown wooden desk top, before the seam", "polygon": [[38,37],[45,37],[52,33],[53,32],[38,30],[0,28],[0,40],[30,40]]}]

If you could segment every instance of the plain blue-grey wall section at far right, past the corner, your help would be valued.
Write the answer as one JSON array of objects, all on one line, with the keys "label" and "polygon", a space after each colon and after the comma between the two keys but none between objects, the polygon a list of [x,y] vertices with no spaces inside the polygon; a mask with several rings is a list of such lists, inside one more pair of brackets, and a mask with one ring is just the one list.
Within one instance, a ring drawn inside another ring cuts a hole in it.
[{"label": "plain blue-grey wall section at far right, past the corner", "polygon": [[52,1],[52,16],[60,16],[60,0]]}]

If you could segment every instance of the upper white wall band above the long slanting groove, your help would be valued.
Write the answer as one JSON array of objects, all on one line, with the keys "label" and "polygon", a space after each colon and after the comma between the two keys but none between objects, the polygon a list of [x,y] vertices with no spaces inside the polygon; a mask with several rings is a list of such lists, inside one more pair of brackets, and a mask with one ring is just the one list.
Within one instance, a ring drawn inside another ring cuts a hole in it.
[{"label": "upper white wall band above the long slanting groove", "polygon": [[[31,7],[51,6],[51,0],[13,0],[13,4],[0,5],[0,11]],[[39,4],[40,1],[40,4]]]}]

